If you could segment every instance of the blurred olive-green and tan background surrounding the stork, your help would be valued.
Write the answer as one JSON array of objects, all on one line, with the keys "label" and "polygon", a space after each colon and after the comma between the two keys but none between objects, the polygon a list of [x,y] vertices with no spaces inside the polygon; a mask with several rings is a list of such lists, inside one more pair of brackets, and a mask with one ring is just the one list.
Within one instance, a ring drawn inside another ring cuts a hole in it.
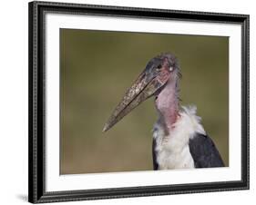
[{"label": "blurred olive-green and tan background surrounding the stork", "polygon": [[101,131],[148,60],[163,52],[179,58],[181,105],[197,105],[229,165],[228,37],[61,29],[61,174],[152,170],[153,99]]}]

